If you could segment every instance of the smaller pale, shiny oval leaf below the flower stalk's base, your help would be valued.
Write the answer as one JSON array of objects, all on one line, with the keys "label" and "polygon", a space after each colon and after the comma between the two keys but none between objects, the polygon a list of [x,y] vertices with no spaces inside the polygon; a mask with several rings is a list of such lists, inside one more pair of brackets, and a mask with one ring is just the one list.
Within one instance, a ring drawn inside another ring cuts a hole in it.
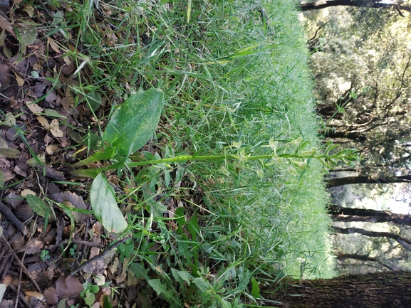
[{"label": "smaller pale, shiny oval leaf below the flower stalk's base", "polygon": [[102,174],[98,174],[91,184],[90,204],[95,218],[108,231],[121,233],[127,228],[127,222],[115,201],[113,188]]}]

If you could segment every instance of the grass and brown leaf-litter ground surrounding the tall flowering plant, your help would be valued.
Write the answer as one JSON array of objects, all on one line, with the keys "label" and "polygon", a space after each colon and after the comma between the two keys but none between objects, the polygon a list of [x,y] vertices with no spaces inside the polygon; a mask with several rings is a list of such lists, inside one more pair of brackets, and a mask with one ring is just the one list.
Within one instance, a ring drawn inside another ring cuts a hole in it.
[{"label": "grass and brown leaf-litter ground surrounding the tall flowering plant", "polygon": [[[70,171],[101,147],[115,106],[133,92],[158,87],[167,102],[155,137],[132,160],[215,154],[239,140],[254,149],[273,135],[303,134],[318,146],[311,87],[301,86],[305,68],[296,64],[305,54],[293,56],[301,41],[283,43],[296,36],[288,21],[270,28],[254,6],[237,20],[234,6],[217,16],[218,5],[188,2],[0,1],[1,307],[259,304],[259,284],[281,280],[284,267],[295,275],[298,258],[307,260],[301,252],[326,238],[316,164],[268,168],[266,177],[259,164],[243,171],[224,162],[118,169],[105,176],[128,233],[109,234],[92,215],[93,179]],[[279,7],[272,16],[293,10]],[[230,32],[227,14],[244,28]],[[281,65],[274,48],[284,49]],[[307,223],[318,217],[323,223]],[[316,272],[326,250],[307,268]]]}]

